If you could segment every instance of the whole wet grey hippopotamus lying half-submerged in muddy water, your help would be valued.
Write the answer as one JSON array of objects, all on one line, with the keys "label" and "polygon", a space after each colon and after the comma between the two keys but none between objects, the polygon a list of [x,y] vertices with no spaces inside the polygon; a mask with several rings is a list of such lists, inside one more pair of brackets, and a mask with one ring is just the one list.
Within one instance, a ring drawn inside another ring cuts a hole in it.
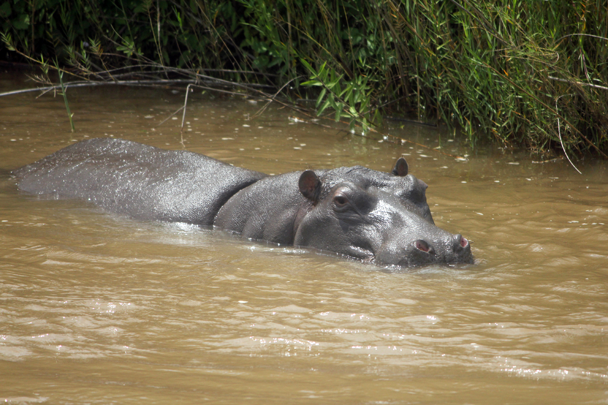
[{"label": "whole wet grey hippopotamus lying half-submerged in muddy water", "polygon": [[22,192],[81,199],[138,220],[213,226],[381,266],[473,263],[468,240],[435,225],[427,185],[408,170],[401,157],[390,172],[267,175],[195,152],[94,138],[13,175]]}]

